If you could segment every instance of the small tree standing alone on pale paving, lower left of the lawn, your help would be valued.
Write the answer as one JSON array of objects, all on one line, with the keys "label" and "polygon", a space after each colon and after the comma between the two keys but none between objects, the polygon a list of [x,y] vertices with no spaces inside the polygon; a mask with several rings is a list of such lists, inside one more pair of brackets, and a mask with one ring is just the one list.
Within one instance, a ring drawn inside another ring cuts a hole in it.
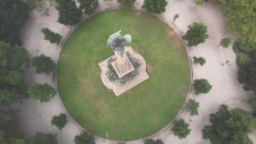
[{"label": "small tree standing alone on pale paving, lower left of the lawn", "polygon": [[67,124],[67,115],[64,113],[59,114],[58,116],[54,115],[51,118],[51,125],[55,125],[59,130],[65,127]]}]

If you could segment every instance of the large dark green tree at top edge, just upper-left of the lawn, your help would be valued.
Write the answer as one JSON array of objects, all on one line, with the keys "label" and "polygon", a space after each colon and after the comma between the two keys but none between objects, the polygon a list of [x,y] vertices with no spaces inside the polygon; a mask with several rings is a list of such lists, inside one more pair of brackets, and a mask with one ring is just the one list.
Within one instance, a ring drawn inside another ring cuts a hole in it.
[{"label": "large dark green tree at top edge, just upper-left of the lawn", "polygon": [[56,0],[56,10],[59,11],[60,24],[75,26],[82,19],[82,11],[77,8],[74,0]]}]

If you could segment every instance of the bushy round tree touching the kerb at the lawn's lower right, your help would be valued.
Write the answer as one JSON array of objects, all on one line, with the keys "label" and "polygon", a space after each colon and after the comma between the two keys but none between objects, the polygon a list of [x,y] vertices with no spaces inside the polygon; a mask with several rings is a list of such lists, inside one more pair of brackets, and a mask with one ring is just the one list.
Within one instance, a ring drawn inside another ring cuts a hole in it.
[{"label": "bushy round tree touching the kerb at the lawn's lower right", "polygon": [[179,139],[185,139],[190,134],[191,129],[189,129],[189,124],[187,124],[184,119],[174,120],[171,132],[174,136]]}]

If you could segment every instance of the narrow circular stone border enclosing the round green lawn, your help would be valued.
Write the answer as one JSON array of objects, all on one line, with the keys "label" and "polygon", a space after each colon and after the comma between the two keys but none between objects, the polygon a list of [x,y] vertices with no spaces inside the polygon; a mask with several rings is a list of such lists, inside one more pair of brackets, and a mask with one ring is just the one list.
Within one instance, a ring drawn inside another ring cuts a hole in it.
[{"label": "narrow circular stone border enclosing the round green lawn", "polygon": [[[94,16],[94,15],[96,15],[96,14],[98,14],[98,13],[104,12],[104,11],[113,10],[113,9],[119,9],[119,8],[134,9],[134,10],[143,11],[143,12],[148,13],[147,11],[142,10],[142,9],[139,9],[139,8],[113,7],[113,8],[105,8],[105,9],[103,9],[102,11],[99,11],[99,12],[93,14],[92,16]],[[157,16],[157,15],[155,15],[155,14],[152,14],[152,13],[149,13],[149,14],[151,14],[151,15],[157,17],[159,20],[163,21],[165,24],[168,25],[168,27],[170,27],[170,28],[175,32],[176,36],[179,37],[179,39],[181,40],[182,44],[184,45],[185,51],[186,51],[187,56],[188,56],[188,59],[189,59],[190,82],[189,82],[188,93],[187,93],[186,99],[185,99],[185,101],[184,101],[184,104],[182,105],[182,107],[181,107],[181,109],[179,110],[179,112],[177,113],[177,115],[173,118],[173,120],[175,120],[176,117],[178,117],[179,114],[180,114],[180,113],[182,112],[182,110],[184,109],[185,102],[187,101],[188,95],[189,95],[189,93],[190,93],[190,91],[191,91],[191,88],[192,88],[192,79],[193,79],[193,75],[192,75],[192,63],[191,63],[191,60],[190,60],[189,53],[188,53],[188,51],[187,51],[187,45],[185,45],[184,41],[181,39],[181,37],[180,37],[179,34],[175,31],[175,29],[174,29],[170,24],[168,24],[165,20],[161,19],[159,16]],[[88,18],[90,18],[90,17],[91,17],[91,16],[88,16],[88,17],[86,17],[85,19],[83,19],[83,20],[80,22],[80,24],[82,24],[84,21],[86,21],[86,20],[87,20]],[[64,40],[61,42],[61,46],[60,46],[60,47],[61,47],[61,50],[62,50],[62,48],[63,48],[64,43],[65,43],[66,40],[68,39],[69,35],[70,35],[78,26],[80,26],[80,24],[77,24],[77,26],[72,27],[72,29],[69,31],[69,33],[66,35],[66,37],[64,37]],[[65,108],[65,106],[64,106],[64,104],[63,104],[63,102],[62,102],[62,100],[61,100],[61,96],[59,95],[58,84],[57,84],[57,64],[58,64],[58,62],[59,62],[59,57],[60,57],[60,55],[61,55],[61,51],[60,51],[60,53],[59,53],[59,56],[58,56],[58,59],[57,59],[57,62],[56,62],[56,71],[55,71],[56,90],[57,90],[57,93],[58,93],[57,95],[58,95],[58,97],[59,97],[59,99],[60,99],[61,106],[65,109],[65,111],[67,112],[68,116],[71,118],[72,122],[73,122],[77,127],[79,127],[82,131],[86,131],[86,130],[85,130],[83,127],[81,127],[81,126],[73,119],[73,117],[69,114],[69,112],[67,111],[67,109]],[[143,141],[143,140],[145,140],[145,139],[150,139],[150,138],[152,138],[153,136],[156,136],[156,135],[159,134],[160,132],[164,131],[166,128],[168,128],[168,127],[172,124],[173,120],[172,120],[168,125],[166,125],[164,128],[162,128],[160,131],[158,131],[158,132],[156,132],[155,134],[152,134],[151,136],[148,136],[148,137],[146,137],[146,138],[142,138],[142,139],[138,139],[138,140],[133,140],[133,141],[117,141],[117,142],[136,142],[136,141]],[[89,131],[86,131],[86,132],[90,133]],[[92,133],[92,134],[93,134],[93,133]],[[99,136],[94,135],[94,134],[93,134],[93,136],[95,136],[97,139],[102,139],[103,141],[105,141],[105,140],[107,140],[107,141],[113,141],[113,140],[109,140],[109,139],[104,139],[104,138],[99,137]]]}]

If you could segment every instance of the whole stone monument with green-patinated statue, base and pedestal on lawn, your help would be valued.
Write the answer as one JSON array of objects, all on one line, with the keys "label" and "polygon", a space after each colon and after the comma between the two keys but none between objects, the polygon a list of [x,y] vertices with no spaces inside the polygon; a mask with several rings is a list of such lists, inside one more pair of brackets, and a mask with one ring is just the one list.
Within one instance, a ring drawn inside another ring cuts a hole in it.
[{"label": "whole stone monument with green-patinated statue, base and pedestal on lawn", "polygon": [[131,46],[125,46],[126,42],[131,42],[131,35],[121,36],[120,32],[107,40],[115,55],[99,63],[103,84],[112,89],[116,96],[149,78],[144,58],[135,53]]}]

